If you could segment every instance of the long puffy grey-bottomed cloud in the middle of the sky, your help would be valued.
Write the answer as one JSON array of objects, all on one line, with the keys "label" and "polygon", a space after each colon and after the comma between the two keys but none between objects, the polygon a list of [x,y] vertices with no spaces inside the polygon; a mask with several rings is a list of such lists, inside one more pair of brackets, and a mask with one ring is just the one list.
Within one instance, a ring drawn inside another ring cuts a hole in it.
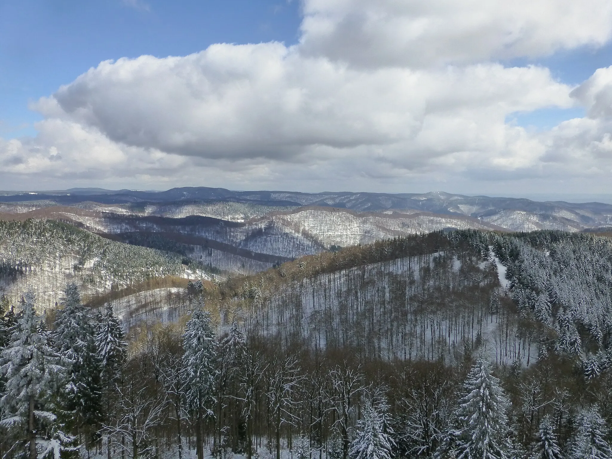
[{"label": "long puffy grey-bottomed cloud in the middle of the sky", "polygon": [[316,154],[315,146],[414,140],[436,117],[467,122],[462,130],[490,119],[503,124],[513,111],[570,105],[568,91],[539,67],[363,72],[267,43],[102,62],[36,107],[48,119],[92,126],[130,146],[292,161]]}]

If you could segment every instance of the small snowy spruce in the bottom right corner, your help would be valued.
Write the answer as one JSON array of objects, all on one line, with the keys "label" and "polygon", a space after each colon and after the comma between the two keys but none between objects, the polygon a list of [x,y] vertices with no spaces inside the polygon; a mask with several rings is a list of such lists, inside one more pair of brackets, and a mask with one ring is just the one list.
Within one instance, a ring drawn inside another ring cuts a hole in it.
[{"label": "small snowy spruce in the bottom right corner", "polygon": [[570,459],[612,458],[612,449],[605,440],[608,427],[596,406],[584,409],[580,413],[577,427],[570,446]]}]

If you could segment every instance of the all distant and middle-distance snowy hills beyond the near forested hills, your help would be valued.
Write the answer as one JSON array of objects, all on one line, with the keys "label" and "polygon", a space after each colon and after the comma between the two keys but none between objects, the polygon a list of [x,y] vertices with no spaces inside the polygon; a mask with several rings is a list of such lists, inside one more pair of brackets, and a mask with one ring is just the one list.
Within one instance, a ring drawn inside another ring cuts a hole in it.
[{"label": "all distant and middle-distance snowy hills beyond the near forested hills", "polygon": [[27,218],[70,222],[135,245],[173,247],[211,268],[252,274],[303,255],[435,230],[610,231],[612,205],[443,192],[207,187],[0,193],[0,220]]}]

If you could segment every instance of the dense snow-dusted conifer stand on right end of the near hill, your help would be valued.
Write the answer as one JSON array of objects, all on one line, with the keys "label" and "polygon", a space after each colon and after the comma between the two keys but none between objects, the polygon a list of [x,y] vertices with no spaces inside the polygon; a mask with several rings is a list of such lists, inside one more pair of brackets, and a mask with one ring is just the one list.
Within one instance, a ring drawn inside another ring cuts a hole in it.
[{"label": "dense snow-dusted conifer stand on right end of the near hill", "polygon": [[612,242],[585,234],[497,236],[510,296],[535,319],[540,354],[580,356],[591,377],[612,363]]}]

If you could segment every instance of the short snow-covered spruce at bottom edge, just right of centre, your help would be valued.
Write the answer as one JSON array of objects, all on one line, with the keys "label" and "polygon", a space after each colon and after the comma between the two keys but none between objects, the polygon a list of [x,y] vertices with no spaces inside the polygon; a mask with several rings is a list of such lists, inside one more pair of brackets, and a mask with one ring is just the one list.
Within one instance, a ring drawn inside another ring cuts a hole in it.
[{"label": "short snow-covered spruce at bottom edge, just right of centre", "polygon": [[[383,408],[384,409],[384,408]],[[386,413],[381,412],[372,400],[368,400],[357,422],[357,436],[351,442],[351,459],[390,459],[395,443],[386,427]]]}]

